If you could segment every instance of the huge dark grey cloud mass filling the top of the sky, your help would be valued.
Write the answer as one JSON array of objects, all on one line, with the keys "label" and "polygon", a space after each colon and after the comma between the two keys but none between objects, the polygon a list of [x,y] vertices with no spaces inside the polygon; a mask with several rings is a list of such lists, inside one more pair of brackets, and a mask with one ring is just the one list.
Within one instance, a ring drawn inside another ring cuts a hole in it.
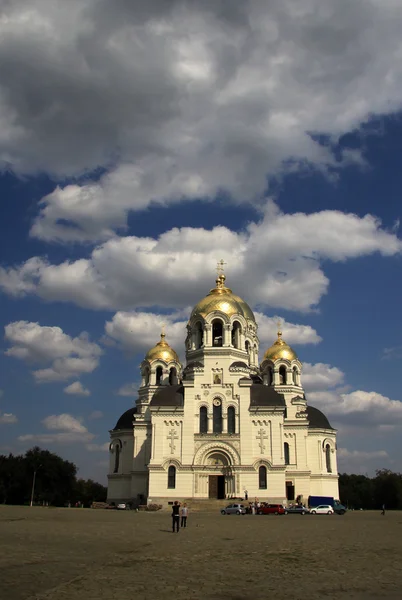
[{"label": "huge dark grey cloud mass filling the top of the sky", "polygon": [[108,169],[43,199],[43,239],[108,238],[155,201],[224,190],[258,202],[267,175],[363,162],[333,145],[400,108],[401,28],[392,0],[9,2],[0,161],[61,177]]}]

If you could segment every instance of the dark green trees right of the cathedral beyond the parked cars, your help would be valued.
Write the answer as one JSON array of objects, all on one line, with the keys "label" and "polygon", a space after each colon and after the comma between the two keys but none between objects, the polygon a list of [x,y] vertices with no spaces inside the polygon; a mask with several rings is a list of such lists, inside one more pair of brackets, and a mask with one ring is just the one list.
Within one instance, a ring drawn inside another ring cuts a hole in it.
[{"label": "dark green trees right of the cathedral beyond the parked cars", "polygon": [[341,502],[359,510],[376,510],[384,504],[387,509],[402,510],[402,474],[388,469],[376,471],[374,477],[367,475],[339,475]]}]

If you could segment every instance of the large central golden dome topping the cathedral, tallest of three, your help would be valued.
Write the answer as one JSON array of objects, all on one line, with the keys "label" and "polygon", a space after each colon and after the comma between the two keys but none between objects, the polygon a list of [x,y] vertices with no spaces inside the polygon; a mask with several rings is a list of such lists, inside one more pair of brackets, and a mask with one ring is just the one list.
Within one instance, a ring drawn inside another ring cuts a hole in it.
[{"label": "large central golden dome topping the cathedral, tallest of three", "polygon": [[254,313],[242,298],[236,296],[232,290],[225,286],[226,277],[223,273],[216,279],[216,287],[205,298],[200,300],[193,308],[190,319],[196,316],[205,318],[211,312],[219,310],[228,317],[241,315],[245,319],[255,321]]}]

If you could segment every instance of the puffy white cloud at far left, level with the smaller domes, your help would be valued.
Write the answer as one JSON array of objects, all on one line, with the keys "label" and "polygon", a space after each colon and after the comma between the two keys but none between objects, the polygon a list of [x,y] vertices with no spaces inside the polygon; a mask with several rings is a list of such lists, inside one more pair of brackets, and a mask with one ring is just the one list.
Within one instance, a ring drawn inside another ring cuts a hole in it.
[{"label": "puffy white cloud at far left, level with the smaller domes", "polygon": [[44,327],[28,321],[6,325],[5,339],[11,344],[7,356],[50,365],[33,371],[38,383],[65,381],[82,373],[92,373],[102,354],[102,349],[89,341],[86,332],[72,338],[60,327]]}]

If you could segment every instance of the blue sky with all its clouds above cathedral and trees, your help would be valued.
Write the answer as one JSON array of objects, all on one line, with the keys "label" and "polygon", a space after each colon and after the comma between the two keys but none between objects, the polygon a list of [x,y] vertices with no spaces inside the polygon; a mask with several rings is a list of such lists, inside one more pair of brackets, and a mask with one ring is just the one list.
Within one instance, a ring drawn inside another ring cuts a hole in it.
[{"label": "blue sky with all its clouds above cathedral and trees", "polygon": [[340,470],[401,470],[401,11],[135,4],[0,25],[0,452],[104,482],[144,353],[166,322],[183,355],[224,258]]}]

